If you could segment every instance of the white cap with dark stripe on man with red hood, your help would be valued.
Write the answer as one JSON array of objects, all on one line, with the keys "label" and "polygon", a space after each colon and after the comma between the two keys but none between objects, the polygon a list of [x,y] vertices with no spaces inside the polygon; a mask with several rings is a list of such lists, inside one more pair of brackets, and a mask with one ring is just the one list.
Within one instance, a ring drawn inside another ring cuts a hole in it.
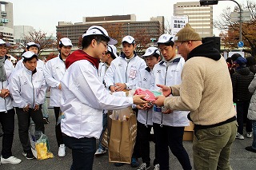
[{"label": "white cap with dark stripe on man with red hood", "polygon": [[[90,28],[86,30],[86,33],[82,34],[82,38],[88,35],[103,35],[106,38],[110,38],[109,34],[107,34],[106,30],[102,26],[90,26]],[[110,38],[110,42],[108,42],[109,45],[115,45],[116,43],[118,43],[118,41],[114,38]]]}]

